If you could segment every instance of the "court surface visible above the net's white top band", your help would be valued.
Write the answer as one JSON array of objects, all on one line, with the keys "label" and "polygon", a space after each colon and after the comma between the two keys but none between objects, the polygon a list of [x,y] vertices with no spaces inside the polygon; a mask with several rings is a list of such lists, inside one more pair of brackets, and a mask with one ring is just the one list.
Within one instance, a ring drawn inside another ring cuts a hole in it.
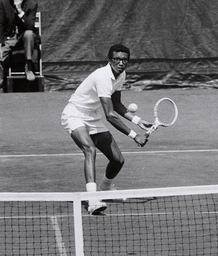
[{"label": "court surface visible above the net's white top band", "polygon": [[[216,89],[122,91],[123,104],[137,103],[136,114],[150,122],[154,122],[154,105],[162,97],[174,100],[178,118],[171,127],[153,132],[142,148],[105,121],[125,158],[115,185],[120,189],[141,189],[218,184],[216,93]],[[83,153],[60,122],[71,94],[1,95],[1,192],[86,191]],[[122,120],[144,134],[136,125]],[[97,153],[99,184],[107,159]]]}]

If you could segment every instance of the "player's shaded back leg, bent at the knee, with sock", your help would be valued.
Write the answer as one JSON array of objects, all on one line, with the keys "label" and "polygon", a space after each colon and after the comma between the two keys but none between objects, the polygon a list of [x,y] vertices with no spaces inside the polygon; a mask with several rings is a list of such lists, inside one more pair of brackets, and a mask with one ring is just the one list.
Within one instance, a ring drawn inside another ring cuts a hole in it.
[{"label": "player's shaded back leg, bent at the knee, with sock", "polygon": [[124,158],[116,141],[109,131],[90,135],[95,146],[110,161],[107,165],[105,176],[99,186],[100,190],[110,190],[113,179],[117,176],[124,164]]}]

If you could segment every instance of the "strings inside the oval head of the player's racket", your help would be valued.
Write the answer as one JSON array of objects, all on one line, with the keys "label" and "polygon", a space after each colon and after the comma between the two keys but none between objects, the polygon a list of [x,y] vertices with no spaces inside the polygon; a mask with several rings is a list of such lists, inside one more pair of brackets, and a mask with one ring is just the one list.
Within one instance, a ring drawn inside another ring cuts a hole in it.
[{"label": "strings inside the oval head of the player's racket", "polygon": [[164,124],[171,124],[175,117],[174,105],[168,101],[163,100],[157,107],[158,119]]}]

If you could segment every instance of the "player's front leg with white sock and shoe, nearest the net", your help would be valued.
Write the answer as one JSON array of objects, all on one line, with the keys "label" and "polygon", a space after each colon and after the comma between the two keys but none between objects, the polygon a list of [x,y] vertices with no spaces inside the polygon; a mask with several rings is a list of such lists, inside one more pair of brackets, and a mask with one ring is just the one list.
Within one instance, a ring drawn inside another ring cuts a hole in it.
[{"label": "player's front leg with white sock and shoe, nearest the net", "polygon": [[[89,133],[85,127],[78,127],[72,131],[71,137],[85,155],[84,173],[86,178],[86,190],[87,192],[95,192],[97,190],[95,183],[95,144],[90,138]],[[106,204],[102,201],[89,200],[88,212],[90,214],[102,212],[106,208]]]}]

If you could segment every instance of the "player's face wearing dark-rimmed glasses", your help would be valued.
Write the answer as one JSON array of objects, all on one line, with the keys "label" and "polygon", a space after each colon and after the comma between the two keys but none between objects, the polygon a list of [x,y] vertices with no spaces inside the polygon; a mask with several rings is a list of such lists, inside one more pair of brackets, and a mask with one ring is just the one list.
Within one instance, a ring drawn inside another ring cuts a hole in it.
[{"label": "player's face wearing dark-rimmed glasses", "polygon": [[113,52],[113,57],[108,61],[111,65],[112,72],[115,78],[119,76],[119,74],[123,73],[123,71],[126,69],[128,60],[129,58],[126,52]]}]

